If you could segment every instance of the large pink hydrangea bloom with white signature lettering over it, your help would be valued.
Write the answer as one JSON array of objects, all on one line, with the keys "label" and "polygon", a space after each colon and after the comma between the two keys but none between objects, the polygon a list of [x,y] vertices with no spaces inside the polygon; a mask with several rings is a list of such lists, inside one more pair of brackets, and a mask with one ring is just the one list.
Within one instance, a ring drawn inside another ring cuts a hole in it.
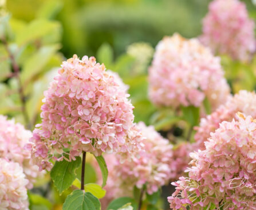
[{"label": "large pink hydrangea bloom with white signature lettering over it", "polygon": [[220,124],[205,150],[191,153],[189,177],[172,183],[172,209],[255,209],[256,120],[238,116]]}]

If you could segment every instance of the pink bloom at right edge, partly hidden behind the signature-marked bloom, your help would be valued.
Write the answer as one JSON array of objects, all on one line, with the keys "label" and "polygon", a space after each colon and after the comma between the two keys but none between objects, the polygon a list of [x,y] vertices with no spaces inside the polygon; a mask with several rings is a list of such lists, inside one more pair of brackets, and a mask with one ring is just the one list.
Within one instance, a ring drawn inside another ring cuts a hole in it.
[{"label": "pink bloom at right edge, partly hidden behind the signature-marked bloom", "polygon": [[239,91],[233,97],[229,97],[227,102],[221,105],[211,115],[202,118],[200,126],[196,127],[197,131],[194,138],[194,150],[204,150],[204,142],[210,137],[211,132],[219,128],[219,123],[223,121],[230,122],[233,118],[237,118],[236,113],[242,112],[246,115],[251,115],[256,118],[256,94],[255,92],[248,92],[246,90]]}]

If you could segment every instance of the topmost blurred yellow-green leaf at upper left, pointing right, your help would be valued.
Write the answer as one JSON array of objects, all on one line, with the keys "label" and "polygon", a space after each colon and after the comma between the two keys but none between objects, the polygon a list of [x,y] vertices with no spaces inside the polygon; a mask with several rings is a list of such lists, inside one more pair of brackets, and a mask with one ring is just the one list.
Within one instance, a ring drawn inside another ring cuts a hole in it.
[{"label": "topmost blurred yellow-green leaf at upper left, pointing right", "polygon": [[59,27],[58,22],[48,21],[46,19],[35,19],[31,21],[26,27],[18,31],[16,34],[16,42],[19,46],[34,41],[38,38],[44,37]]}]

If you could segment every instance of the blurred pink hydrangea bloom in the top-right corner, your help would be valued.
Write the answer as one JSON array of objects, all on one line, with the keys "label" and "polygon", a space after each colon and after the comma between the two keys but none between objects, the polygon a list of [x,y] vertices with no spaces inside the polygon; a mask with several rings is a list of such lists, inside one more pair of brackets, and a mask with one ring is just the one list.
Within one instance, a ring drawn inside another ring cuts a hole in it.
[{"label": "blurred pink hydrangea bloom in the top-right corner", "polygon": [[254,27],[245,3],[238,0],[214,0],[203,19],[200,41],[215,53],[248,60],[256,50]]}]

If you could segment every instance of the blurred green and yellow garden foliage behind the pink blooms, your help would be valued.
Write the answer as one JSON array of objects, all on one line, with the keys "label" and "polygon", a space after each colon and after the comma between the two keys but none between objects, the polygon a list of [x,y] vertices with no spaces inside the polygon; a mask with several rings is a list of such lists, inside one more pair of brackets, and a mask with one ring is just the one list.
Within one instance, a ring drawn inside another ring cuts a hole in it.
[{"label": "blurred green and yellow garden foliage behind the pink blooms", "polygon": [[[33,129],[40,123],[43,92],[62,60],[73,54],[80,58],[96,56],[98,62],[118,72],[129,85],[136,122],[153,124],[170,140],[184,139],[190,135],[191,126],[198,124],[199,111],[182,110],[191,116],[191,121],[175,110],[154,107],[148,100],[147,70],[157,42],[165,35],[200,35],[209,2],[0,0],[0,114]],[[250,17],[256,19],[256,6],[250,0],[245,2]],[[221,58],[233,93],[256,89],[255,57],[250,63],[234,62],[228,56]],[[170,129],[172,136],[168,136]],[[86,177],[94,181],[94,169],[89,163],[86,168],[90,168]],[[49,176],[39,180],[29,194],[30,209],[62,209],[61,204],[71,191],[58,196],[49,180]]]}]

